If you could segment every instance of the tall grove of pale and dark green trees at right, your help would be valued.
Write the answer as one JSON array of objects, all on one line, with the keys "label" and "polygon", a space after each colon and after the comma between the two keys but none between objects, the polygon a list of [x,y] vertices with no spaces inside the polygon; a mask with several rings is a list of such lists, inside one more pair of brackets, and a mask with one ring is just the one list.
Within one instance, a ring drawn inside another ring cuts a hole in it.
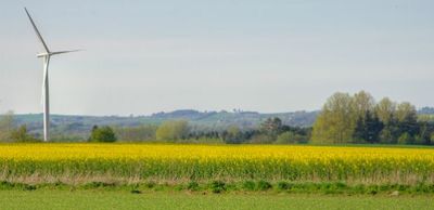
[{"label": "tall grove of pale and dark green trees at right", "polygon": [[323,105],[312,128],[312,143],[432,144],[434,124],[418,118],[416,107],[371,94],[335,93]]}]

